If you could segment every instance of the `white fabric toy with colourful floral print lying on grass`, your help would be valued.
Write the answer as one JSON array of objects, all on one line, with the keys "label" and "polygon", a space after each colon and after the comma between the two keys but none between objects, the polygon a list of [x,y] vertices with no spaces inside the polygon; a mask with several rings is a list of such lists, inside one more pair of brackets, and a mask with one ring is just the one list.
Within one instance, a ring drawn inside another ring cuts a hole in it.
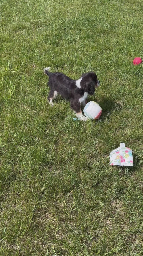
[{"label": "white fabric toy with colourful floral print lying on grass", "polygon": [[110,165],[133,166],[132,150],[120,143],[120,147],[110,153]]}]

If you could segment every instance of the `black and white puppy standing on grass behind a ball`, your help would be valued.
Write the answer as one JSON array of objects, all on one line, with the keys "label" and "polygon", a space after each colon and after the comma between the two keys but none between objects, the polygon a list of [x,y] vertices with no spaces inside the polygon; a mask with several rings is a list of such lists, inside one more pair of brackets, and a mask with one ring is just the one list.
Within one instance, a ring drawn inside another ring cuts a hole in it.
[{"label": "black and white puppy standing on grass behind a ball", "polygon": [[94,72],[83,74],[78,80],[73,80],[63,73],[49,71],[50,67],[44,68],[44,74],[49,76],[48,86],[50,93],[48,96],[50,104],[53,106],[53,99],[59,93],[62,97],[70,101],[70,107],[76,112],[77,117],[86,121],[80,105],[86,105],[88,95],[94,95],[95,88],[100,85],[97,75]]}]

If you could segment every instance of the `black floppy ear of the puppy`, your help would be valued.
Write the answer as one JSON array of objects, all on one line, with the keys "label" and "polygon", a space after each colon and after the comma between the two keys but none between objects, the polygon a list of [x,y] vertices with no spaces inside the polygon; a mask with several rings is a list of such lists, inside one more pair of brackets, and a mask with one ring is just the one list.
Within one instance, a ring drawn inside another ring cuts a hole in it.
[{"label": "black floppy ear of the puppy", "polygon": [[91,76],[83,76],[81,82],[81,88],[84,89],[89,95],[94,95],[95,92],[95,82]]}]

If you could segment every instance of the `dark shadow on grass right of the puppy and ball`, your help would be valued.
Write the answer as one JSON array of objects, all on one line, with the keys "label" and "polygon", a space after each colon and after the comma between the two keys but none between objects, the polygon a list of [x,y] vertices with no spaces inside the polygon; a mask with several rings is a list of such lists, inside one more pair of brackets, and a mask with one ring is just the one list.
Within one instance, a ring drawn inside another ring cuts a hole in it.
[{"label": "dark shadow on grass right of the puppy and ball", "polygon": [[100,105],[100,107],[102,108],[102,115],[100,117],[100,121],[108,121],[112,112],[114,111],[119,111],[122,109],[122,105],[113,100],[112,98],[100,98],[100,100],[95,99],[95,101]]}]

